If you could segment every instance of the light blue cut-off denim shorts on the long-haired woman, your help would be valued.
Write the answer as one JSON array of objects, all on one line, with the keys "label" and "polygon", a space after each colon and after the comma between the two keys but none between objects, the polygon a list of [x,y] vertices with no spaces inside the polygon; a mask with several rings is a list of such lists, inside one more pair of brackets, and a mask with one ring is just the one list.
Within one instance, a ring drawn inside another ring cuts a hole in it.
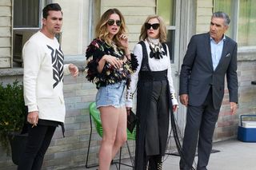
[{"label": "light blue cut-off denim shorts on the long-haired woman", "polygon": [[96,107],[112,105],[115,108],[121,108],[125,105],[125,88],[126,81],[101,87],[96,95]]}]

